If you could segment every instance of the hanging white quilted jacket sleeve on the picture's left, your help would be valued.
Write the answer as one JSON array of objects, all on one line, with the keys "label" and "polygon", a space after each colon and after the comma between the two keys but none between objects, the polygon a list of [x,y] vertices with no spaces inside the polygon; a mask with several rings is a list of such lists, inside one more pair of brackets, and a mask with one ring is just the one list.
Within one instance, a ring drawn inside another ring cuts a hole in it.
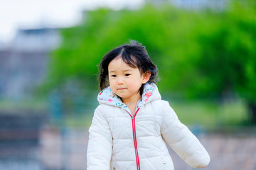
[{"label": "hanging white quilted jacket sleeve on the picture's left", "polygon": [[87,170],[110,170],[112,134],[102,108],[96,108],[89,128]]}]

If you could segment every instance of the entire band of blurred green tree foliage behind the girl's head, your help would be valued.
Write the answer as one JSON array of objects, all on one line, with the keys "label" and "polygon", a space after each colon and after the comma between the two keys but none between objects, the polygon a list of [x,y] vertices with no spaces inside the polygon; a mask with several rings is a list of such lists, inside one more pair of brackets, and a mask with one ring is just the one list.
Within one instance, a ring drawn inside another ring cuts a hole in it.
[{"label": "entire band of blurred green tree foliage behind the girl's head", "polygon": [[159,67],[161,91],[191,98],[232,92],[256,102],[255,14],[252,1],[235,2],[225,11],[186,11],[168,4],[88,11],[80,26],[62,30],[62,45],[51,55],[49,84],[78,79],[96,89],[102,56],[133,39],[146,46]]}]

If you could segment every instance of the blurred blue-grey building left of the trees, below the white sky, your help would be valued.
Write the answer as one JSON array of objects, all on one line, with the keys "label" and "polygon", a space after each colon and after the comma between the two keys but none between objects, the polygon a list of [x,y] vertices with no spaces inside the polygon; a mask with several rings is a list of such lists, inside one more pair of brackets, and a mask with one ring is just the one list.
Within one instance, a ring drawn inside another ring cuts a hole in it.
[{"label": "blurred blue-grey building left of the trees, below the white sky", "polygon": [[24,98],[41,84],[49,52],[60,44],[56,28],[20,29],[8,47],[0,47],[0,98]]}]

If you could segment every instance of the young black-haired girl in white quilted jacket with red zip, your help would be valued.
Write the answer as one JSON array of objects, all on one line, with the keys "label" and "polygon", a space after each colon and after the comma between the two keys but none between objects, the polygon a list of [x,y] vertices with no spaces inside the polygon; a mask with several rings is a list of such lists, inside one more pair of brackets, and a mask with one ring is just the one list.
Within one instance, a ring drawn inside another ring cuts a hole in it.
[{"label": "young black-haired girl in white quilted jacket with red zip", "polygon": [[89,129],[87,170],[173,170],[165,142],[190,166],[208,165],[206,149],[161,100],[156,76],[156,66],[137,42],[103,57],[100,106]]}]

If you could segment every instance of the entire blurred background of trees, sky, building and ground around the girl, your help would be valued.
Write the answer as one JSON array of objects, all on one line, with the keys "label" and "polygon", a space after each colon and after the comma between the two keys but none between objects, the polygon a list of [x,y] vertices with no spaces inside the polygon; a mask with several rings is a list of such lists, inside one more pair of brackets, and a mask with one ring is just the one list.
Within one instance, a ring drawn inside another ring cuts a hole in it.
[{"label": "entire blurred background of trees, sky, building and ground around the girl", "polygon": [[253,0],[0,0],[0,169],[86,169],[97,65],[131,39],[208,150],[204,169],[255,170]]}]

